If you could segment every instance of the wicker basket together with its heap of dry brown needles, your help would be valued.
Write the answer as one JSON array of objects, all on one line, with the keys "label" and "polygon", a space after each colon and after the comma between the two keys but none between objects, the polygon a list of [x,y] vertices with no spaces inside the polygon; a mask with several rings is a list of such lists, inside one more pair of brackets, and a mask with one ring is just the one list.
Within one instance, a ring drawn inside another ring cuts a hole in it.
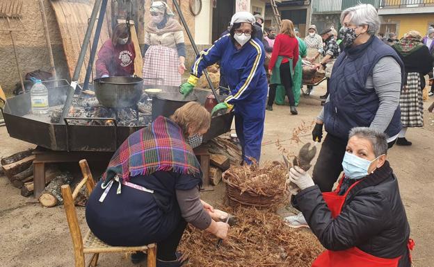
[{"label": "wicker basket together with its heap of dry brown needles", "polygon": [[229,205],[271,207],[284,200],[287,167],[281,162],[232,166],[223,173]]}]

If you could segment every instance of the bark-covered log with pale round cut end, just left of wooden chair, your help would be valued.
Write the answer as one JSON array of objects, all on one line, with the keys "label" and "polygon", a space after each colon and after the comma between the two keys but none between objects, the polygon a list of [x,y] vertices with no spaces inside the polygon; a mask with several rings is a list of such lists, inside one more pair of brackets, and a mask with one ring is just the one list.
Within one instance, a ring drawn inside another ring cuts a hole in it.
[{"label": "bark-covered log with pale round cut end, just left of wooden chair", "polygon": [[39,197],[39,202],[44,207],[54,207],[56,205],[63,204],[63,198],[61,194],[61,186],[63,184],[71,184],[72,175],[69,172],[61,173],[57,175],[48,185],[45,187],[45,191],[42,192]]}]

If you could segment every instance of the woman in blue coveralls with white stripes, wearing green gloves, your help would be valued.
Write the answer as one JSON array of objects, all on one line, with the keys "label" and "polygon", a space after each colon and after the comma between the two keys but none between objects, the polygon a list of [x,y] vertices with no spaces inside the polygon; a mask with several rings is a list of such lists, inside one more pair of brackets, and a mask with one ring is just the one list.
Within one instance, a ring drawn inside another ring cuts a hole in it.
[{"label": "woman in blue coveralls with white stripes, wearing green gloves", "polygon": [[265,51],[261,40],[255,39],[255,17],[249,12],[236,12],[231,19],[230,34],[200,52],[193,64],[187,83],[179,92],[193,92],[202,71],[220,61],[220,71],[230,88],[230,95],[211,112],[234,107],[235,129],[243,148],[243,160],[259,162],[264,134],[267,80],[264,69]]}]

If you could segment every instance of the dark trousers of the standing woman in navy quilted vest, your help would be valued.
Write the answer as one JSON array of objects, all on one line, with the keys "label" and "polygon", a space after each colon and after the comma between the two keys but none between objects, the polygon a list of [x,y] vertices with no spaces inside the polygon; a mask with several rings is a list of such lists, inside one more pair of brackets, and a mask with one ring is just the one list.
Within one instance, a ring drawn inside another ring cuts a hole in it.
[{"label": "dark trousers of the standing woman in navy quilted vest", "polygon": [[[392,148],[396,140],[388,144]],[[319,151],[312,178],[321,192],[332,191],[333,184],[339,179],[348,140],[327,134]]]}]

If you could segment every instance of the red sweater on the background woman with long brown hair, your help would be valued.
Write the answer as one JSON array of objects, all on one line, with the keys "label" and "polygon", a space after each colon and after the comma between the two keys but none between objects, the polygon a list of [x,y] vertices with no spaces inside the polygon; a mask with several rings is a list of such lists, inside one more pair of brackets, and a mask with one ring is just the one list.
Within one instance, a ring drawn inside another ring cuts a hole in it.
[{"label": "red sweater on the background woman with long brown hair", "polygon": [[[296,37],[289,37],[286,34],[278,34],[275,37],[274,46],[273,46],[273,54],[271,55],[270,63],[268,64],[268,69],[273,70],[276,60],[278,60],[278,56],[282,55],[286,58],[292,58],[292,67],[293,69],[296,67],[298,61],[298,40]],[[288,60],[284,58],[282,63],[288,62]]]}]

